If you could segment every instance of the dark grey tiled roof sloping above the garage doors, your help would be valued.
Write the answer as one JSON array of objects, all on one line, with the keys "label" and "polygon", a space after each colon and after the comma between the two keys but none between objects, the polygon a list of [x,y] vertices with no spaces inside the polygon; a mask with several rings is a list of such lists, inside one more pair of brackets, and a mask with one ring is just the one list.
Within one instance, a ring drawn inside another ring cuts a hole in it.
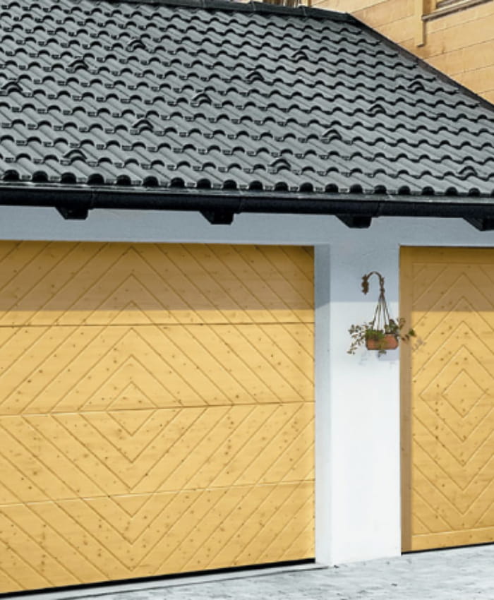
[{"label": "dark grey tiled roof sloping above the garage doors", "polygon": [[0,203],[69,188],[87,208],[123,206],[126,188],[128,208],[207,197],[228,212],[243,198],[240,212],[258,198],[263,211],[265,198],[354,215],[365,200],[367,215],[406,199],[428,214],[461,198],[491,214],[490,104],[351,16],[13,0],[0,31]]}]

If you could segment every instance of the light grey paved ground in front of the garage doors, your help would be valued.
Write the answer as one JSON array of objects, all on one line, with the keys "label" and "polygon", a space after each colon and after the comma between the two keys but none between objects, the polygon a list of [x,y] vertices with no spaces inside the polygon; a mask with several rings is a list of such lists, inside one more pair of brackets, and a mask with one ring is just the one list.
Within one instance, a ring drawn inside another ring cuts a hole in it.
[{"label": "light grey paved ground in front of the garage doors", "polygon": [[[184,581],[184,580],[182,580]],[[102,590],[98,594],[101,594]],[[80,599],[95,595],[78,596]],[[494,545],[328,569],[97,596],[100,600],[494,600]]]}]

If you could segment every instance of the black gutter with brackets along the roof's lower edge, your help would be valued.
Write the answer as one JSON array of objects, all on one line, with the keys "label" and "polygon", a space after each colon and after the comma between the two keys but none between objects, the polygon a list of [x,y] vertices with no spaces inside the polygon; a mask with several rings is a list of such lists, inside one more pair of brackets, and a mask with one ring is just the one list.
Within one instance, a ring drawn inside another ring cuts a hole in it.
[{"label": "black gutter with brackets along the roof's lower edge", "polygon": [[[335,215],[349,227],[368,227],[375,217],[456,217],[486,231],[494,229],[491,196],[415,196],[365,193],[191,191],[126,186],[0,187],[0,205],[56,208],[66,219],[85,219],[88,211],[185,210],[201,212],[212,224],[230,224],[242,212]],[[492,227],[491,227],[492,225]]]}]

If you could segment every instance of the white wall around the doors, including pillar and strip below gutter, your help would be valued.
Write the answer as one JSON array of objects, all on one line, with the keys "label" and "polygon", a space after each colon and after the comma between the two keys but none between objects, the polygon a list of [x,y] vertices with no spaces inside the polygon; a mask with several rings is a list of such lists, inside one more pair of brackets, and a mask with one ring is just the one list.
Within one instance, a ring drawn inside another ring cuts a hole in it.
[{"label": "white wall around the doors, including pillar and strip below gutter", "polygon": [[212,226],[198,214],[93,211],[64,221],[52,209],[0,207],[0,239],[315,245],[316,553],[335,564],[400,552],[399,352],[347,354],[351,323],[369,320],[378,270],[399,315],[399,246],[494,246],[461,220],[375,220],[351,230],[335,217],[239,215]]}]

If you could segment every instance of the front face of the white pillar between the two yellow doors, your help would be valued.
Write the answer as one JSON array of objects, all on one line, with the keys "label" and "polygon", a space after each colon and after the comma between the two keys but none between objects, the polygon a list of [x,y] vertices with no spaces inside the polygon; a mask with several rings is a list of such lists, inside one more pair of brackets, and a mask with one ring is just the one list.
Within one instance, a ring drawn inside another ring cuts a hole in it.
[{"label": "front face of the white pillar between the two yellow doors", "polygon": [[377,279],[368,296],[361,292],[366,272],[385,277],[398,316],[399,247],[380,238],[369,250],[366,239],[351,232],[331,246],[330,564],[401,552],[399,350],[347,354],[349,326],[370,320],[378,299]]}]

